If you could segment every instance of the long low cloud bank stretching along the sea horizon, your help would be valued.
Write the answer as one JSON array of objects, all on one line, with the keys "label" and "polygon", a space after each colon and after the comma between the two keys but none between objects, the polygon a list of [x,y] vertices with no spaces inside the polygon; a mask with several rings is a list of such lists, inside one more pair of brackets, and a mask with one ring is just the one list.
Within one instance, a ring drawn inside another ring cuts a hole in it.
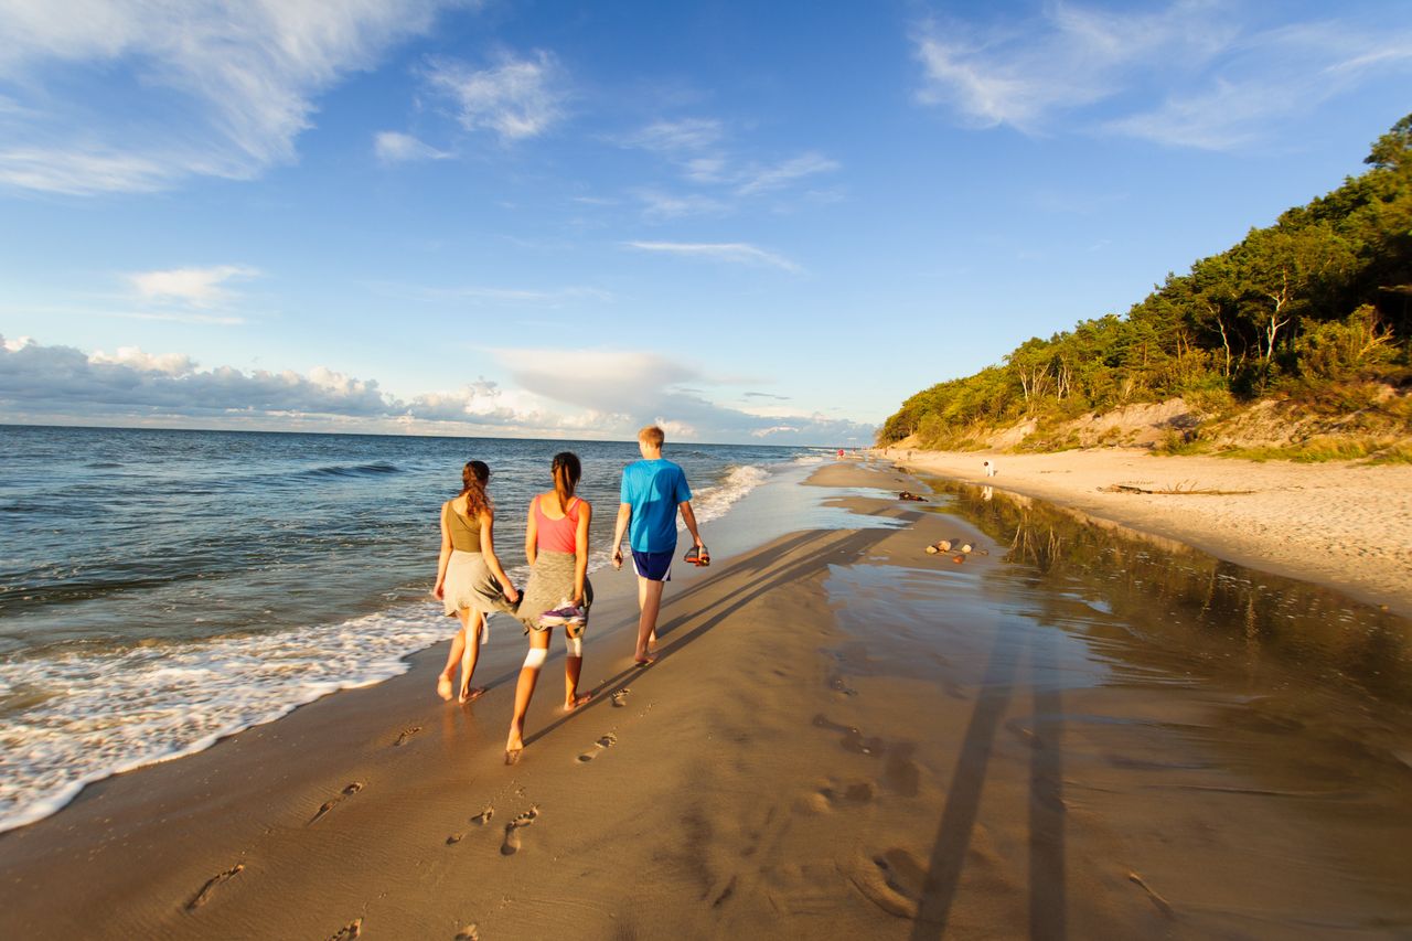
[{"label": "long low cloud bank stretching along the sea horizon", "polygon": [[479,379],[404,401],[377,380],[322,367],[308,374],[202,369],[182,353],[152,355],[137,348],[83,353],[0,336],[0,407],[34,422],[83,414],[158,427],[225,421],[249,428],[624,441],[654,421],[669,422],[674,438],[705,442],[858,445],[870,442],[874,432],[870,425],[818,414],[781,421],[778,408],[754,414],[712,404],[682,387],[683,381],[710,381],[707,377],[651,353],[594,353],[575,374],[544,366],[554,362],[554,350],[494,355],[518,363],[515,377],[528,394]]}]

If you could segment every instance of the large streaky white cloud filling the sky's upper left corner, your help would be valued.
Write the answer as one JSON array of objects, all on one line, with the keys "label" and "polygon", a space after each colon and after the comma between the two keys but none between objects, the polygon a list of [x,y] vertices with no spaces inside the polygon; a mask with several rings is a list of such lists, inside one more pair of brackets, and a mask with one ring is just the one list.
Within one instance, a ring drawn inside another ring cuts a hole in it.
[{"label": "large streaky white cloud filling the sky's upper left corner", "polygon": [[294,160],[322,92],[455,1],[3,3],[0,184],[88,195],[254,177]]}]

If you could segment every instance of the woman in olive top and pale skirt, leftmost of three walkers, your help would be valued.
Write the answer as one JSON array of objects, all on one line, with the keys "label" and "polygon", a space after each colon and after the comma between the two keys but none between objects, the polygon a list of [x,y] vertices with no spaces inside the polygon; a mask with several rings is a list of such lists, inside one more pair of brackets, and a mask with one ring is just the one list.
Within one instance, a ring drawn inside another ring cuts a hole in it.
[{"label": "woman in olive top and pale skirt, leftmost of three walkers", "polygon": [[484,688],[472,688],[480,644],[489,640],[486,616],[491,612],[514,613],[520,592],[505,578],[496,558],[496,513],[486,496],[490,468],[484,461],[470,461],[460,469],[460,493],[442,503],[441,558],[436,560],[436,588],[432,595],[446,615],[460,619],[460,630],[450,641],[446,668],[436,677],[436,694],[450,699],[452,677],[460,664],[460,691],[456,698],[470,702]]}]

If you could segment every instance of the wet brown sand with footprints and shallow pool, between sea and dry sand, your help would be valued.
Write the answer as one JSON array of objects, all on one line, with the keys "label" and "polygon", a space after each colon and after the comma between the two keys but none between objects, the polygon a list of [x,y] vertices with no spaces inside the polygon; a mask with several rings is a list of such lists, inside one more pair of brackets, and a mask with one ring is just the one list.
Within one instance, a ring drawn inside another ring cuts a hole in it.
[{"label": "wet brown sand with footprints and shallow pool, between sea and dry sand", "polygon": [[0,835],[0,937],[1412,931],[1406,622],[897,476],[747,497],[751,526],[853,528],[709,531],[647,670],[631,578],[596,575],[597,697],[554,711],[556,644],[515,767],[501,629],[469,706],[436,647],[88,788]]}]

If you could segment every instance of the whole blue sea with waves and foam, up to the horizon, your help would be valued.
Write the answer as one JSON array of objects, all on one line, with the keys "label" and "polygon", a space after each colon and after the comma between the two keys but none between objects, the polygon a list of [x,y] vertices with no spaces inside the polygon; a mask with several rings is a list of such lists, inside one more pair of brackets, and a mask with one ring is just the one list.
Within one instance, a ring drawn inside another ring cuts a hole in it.
[{"label": "whole blue sea with waves and foam, up to the horizon", "polygon": [[[558,451],[583,462],[592,571],[635,444],[0,427],[0,831],[405,671],[452,633],[429,589],[462,465],[490,465],[497,552],[522,578],[525,507]],[[666,456],[706,523],[823,451]]]}]

